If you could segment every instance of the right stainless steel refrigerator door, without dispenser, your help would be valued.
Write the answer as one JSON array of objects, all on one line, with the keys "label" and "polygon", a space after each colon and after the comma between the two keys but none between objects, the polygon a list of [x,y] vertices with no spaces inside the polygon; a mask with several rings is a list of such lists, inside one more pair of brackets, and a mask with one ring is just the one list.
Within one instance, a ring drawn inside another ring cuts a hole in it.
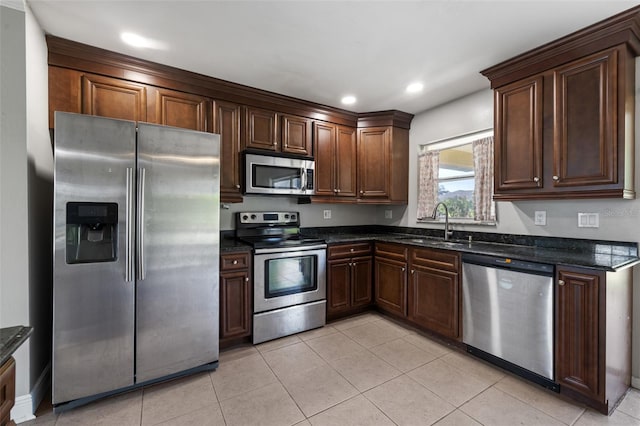
[{"label": "right stainless steel refrigerator door, without dispenser", "polygon": [[138,126],[136,381],[218,360],[219,136]]}]

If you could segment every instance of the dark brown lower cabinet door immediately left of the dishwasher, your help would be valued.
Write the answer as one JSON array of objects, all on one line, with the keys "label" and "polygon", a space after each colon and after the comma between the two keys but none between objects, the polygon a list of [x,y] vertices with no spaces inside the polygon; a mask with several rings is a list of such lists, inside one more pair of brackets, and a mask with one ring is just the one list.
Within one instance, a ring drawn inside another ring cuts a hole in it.
[{"label": "dark brown lower cabinet door immediately left of the dishwasher", "polygon": [[454,272],[411,266],[408,317],[451,338],[459,337],[459,280]]}]

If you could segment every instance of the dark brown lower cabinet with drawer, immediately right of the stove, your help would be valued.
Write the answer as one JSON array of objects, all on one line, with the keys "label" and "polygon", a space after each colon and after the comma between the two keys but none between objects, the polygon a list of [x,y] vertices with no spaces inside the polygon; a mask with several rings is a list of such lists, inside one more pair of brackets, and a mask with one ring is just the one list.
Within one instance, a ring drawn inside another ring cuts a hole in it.
[{"label": "dark brown lower cabinet with drawer, immediately right of the stove", "polygon": [[371,243],[330,246],[327,261],[327,317],[353,314],[373,301]]}]

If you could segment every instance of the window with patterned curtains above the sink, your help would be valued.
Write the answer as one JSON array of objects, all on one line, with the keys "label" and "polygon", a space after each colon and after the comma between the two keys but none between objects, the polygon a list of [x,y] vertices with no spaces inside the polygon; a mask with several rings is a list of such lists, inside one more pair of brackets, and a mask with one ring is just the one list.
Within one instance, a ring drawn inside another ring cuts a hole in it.
[{"label": "window with patterned curtains above the sink", "polygon": [[418,164],[418,221],[434,220],[442,202],[454,221],[495,223],[492,130],[422,145]]}]

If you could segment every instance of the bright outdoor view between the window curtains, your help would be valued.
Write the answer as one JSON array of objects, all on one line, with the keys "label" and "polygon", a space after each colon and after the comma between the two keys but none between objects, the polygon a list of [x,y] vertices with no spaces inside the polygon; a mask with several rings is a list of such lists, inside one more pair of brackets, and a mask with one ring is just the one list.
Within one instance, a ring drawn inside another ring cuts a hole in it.
[{"label": "bright outdoor view between the window curtains", "polygon": [[[446,204],[449,216],[458,219],[473,219],[475,178],[471,143],[440,151],[438,184],[438,201]],[[440,214],[444,214],[444,209]]]}]

